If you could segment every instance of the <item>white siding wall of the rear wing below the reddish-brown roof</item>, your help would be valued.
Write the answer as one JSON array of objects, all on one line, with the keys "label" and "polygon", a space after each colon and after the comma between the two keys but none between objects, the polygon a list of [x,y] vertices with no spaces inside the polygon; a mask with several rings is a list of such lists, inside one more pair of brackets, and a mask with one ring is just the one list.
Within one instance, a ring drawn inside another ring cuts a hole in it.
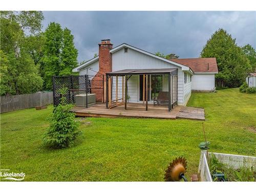
[{"label": "white siding wall of the rear wing below the reddish-brown roof", "polygon": [[194,74],[192,75],[191,90],[211,91],[215,87],[215,74]]}]

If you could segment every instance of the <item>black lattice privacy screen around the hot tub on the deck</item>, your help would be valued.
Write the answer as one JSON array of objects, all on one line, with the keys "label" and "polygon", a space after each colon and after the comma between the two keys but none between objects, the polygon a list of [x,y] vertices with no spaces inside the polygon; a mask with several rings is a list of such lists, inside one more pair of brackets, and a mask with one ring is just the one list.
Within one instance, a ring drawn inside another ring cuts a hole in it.
[{"label": "black lattice privacy screen around the hot tub on the deck", "polygon": [[[102,88],[94,88],[91,80],[94,77],[102,78]],[[78,76],[53,76],[53,104],[57,106],[60,103],[60,90],[67,88],[68,92],[63,95],[67,103],[75,104],[76,95],[89,94],[91,89],[103,89],[104,93],[104,75],[78,75]]]}]

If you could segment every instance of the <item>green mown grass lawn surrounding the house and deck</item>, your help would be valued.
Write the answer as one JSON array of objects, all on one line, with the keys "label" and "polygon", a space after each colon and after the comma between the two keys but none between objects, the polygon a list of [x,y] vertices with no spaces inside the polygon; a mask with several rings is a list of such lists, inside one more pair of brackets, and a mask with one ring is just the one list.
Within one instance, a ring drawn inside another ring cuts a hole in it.
[{"label": "green mown grass lawn surrounding the house and deck", "polygon": [[[256,155],[256,95],[193,93],[187,106],[205,108],[211,152]],[[168,163],[184,156],[187,178],[197,173],[202,121],[83,118],[75,145],[51,150],[41,139],[52,109],[1,114],[2,169],[25,181],[163,181]]]}]

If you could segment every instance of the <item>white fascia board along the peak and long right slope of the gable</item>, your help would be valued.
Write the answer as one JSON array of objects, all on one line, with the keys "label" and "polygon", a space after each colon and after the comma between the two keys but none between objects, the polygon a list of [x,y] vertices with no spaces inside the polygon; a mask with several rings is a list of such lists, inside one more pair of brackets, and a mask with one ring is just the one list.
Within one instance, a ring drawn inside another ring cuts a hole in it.
[{"label": "white fascia board along the peak and long right slope of the gable", "polygon": [[190,70],[189,67],[184,66],[184,65],[181,65],[180,63],[177,63],[177,62],[174,62],[174,61],[165,59],[165,58],[163,58],[163,57],[157,56],[157,55],[155,55],[155,54],[153,54],[153,53],[144,51],[144,50],[142,50],[142,49],[138,49],[138,48],[133,47],[133,46],[130,46],[130,45],[128,45],[128,44],[121,44],[120,46],[117,46],[117,47],[113,48],[112,50],[110,50],[110,53],[115,53],[116,51],[118,51],[118,50],[120,50],[120,49],[122,49],[122,48],[124,48],[124,47],[125,47],[125,48],[133,49],[133,50],[138,51],[138,52],[140,52],[140,53],[143,53],[143,54],[146,54],[146,55],[155,57],[155,58],[157,58],[157,59],[160,59],[160,60],[163,60],[163,61],[165,61],[165,62],[171,63],[171,64],[176,65],[176,66],[178,66],[178,67],[181,67],[181,70],[182,70],[182,71],[189,71],[189,70]]}]

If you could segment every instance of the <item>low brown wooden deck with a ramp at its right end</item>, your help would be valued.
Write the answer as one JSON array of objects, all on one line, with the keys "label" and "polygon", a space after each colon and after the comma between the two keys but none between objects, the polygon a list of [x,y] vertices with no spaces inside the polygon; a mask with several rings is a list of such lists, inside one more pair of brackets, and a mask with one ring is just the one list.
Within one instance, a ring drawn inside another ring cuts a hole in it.
[{"label": "low brown wooden deck with a ramp at its right end", "polygon": [[124,105],[106,109],[105,103],[97,103],[89,106],[89,108],[75,106],[72,111],[75,112],[76,116],[82,117],[185,118],[205,120],[204,109],[187,106],[176,106],[171,112],[168,112],[168,106],[154,106],[153,104],[148,104],[148,111],[145,111],[145,106],[141,103],[127,103],[127,110],[124,110]]}]

